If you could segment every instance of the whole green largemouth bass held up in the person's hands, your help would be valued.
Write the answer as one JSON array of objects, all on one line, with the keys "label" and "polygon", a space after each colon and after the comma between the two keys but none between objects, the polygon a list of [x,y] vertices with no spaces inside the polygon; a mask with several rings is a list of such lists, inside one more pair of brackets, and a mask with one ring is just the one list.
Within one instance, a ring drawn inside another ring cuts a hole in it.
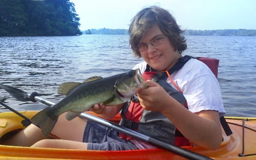
[{"label": "whole green largemouth bass held up in the person's hands", "polygon": [[83,83],[65,82],[59,87],[58,93],[66,97],[56,105],[38,112],[31,121],[47,136],[58,117],[66,111],[66,119],[72,120],[95,104],[113,106],[125,103],[140,89],[147,87],[139,69],[107,78],[92,77]]}]

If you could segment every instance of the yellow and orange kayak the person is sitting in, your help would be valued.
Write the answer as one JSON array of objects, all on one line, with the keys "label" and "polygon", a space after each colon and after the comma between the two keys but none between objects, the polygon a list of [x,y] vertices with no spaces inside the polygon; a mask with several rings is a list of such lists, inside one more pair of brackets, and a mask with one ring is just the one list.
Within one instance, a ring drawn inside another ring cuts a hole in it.
[{"label": "yellow and orange kayak the person is sitting in", "polygon": [[[22,111],[31,118],[37,111]],[[183,147],[192,152],[215,160],[256,160],[256,118],[225,117],[233,134],[223,134],[219,149],[211,151],[198,146]],[[111,121],[118,122],[120,116]],[[0,138],[23,129],[23,118],[13,112],[0,113]],[[243,157],[239,157],[243,155]],[[128,150],[128,151],[92,151],[30,148],[0,145],[0,160],[184,160],[163,149]]]}]

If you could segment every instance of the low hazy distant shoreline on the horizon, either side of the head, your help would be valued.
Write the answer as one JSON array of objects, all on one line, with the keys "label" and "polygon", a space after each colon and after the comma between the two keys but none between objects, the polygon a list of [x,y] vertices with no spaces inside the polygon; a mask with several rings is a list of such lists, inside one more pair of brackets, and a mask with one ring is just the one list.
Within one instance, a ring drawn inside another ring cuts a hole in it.
[{"label": "low hazy distant shoreline on the horizon, either side of the head", "polygon": [[[128,34],[128,29],[87,29],[83,34]],[[218,29],[218,30],[192,30],[187,29],[184,35],[205,36],[256,36],[256,29]]]}]

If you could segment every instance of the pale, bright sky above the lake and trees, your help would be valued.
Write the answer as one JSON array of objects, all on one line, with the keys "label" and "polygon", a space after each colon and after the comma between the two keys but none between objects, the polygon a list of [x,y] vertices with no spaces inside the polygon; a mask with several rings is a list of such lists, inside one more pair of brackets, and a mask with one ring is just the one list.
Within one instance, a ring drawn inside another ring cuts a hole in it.
[{"label": "pale, bright sky above the lake and trees", "polygon": [[256,0],[69,0],[80,17],[80,30],[128,29],[141,9],[167,9],[182,29],[256,29]]}]

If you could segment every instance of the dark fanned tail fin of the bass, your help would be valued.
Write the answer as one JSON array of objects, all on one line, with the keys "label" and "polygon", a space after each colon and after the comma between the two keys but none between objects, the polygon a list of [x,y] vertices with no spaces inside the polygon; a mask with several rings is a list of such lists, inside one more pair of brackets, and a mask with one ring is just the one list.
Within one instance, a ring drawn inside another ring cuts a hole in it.
[{"label": "dark fanned tail fin of the bass", "polygon": [[51,133],[59,117],[50,113],[50,107],[47,107],[31,118],[32,123],[41,128],[44,136]]}]

